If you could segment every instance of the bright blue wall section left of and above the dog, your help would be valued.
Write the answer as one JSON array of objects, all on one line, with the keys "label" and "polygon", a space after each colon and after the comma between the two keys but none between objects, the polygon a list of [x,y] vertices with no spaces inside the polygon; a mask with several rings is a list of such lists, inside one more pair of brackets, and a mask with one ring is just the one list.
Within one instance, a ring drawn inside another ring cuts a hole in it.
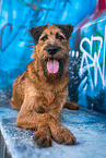
[{"label": "bright blue wall section left of and above the dog", "polygon": [[95,4],[96,0],[0,0],[0,88],[10,88],[32,60],[31,27],[76,25],[93,13]]}]

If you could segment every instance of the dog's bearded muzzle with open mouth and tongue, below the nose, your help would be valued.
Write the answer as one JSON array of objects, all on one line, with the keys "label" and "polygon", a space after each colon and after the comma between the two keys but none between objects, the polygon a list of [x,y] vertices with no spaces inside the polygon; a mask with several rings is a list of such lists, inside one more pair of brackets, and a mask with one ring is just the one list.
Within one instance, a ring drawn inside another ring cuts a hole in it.
[{"label": "dog's bearded muzzle with open mouth and tongue, below the nose", "polygon": [[46,47],[40,51],[40,64],[44,75],[48,82],[57,82],[67,71],[66,66],[69,63],[69,54],[67,53],[67,49],[61,48],[55,56],[50,56],[46,51]]}]

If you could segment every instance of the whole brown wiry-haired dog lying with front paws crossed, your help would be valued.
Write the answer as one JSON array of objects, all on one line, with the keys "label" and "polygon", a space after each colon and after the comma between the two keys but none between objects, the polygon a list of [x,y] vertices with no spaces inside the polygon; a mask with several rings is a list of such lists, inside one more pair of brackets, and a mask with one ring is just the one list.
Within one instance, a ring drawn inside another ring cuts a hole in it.
[{"label": "whole brown wiry-haired dog lying with front paws crossed", "polygon": [[59,144],[75,143],[73,134],[60,122],[63,106],[79,109],[68,97],[69,38],[71,25],[32,28],[34,60],[13,83],[10,105],[20,110],[16,126],[36,129],[33,139],[38,147],[51,146],[51,137]]}]

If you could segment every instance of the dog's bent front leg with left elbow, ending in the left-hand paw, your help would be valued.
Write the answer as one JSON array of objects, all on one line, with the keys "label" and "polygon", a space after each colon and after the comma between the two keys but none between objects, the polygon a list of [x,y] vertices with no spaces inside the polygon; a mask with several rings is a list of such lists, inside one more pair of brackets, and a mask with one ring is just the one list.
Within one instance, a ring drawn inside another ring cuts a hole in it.
[{"label": "dog's bent front leg with left elbow, ending in the left-hand paw", "polygon": [[52,139],[48,122],[51,116],[48,113],[37,113],[35,110],[35,97],[26,97],[16,119],[16,126],[23,129],[36,129],[33,139],[38,147],[51,146]]}]

